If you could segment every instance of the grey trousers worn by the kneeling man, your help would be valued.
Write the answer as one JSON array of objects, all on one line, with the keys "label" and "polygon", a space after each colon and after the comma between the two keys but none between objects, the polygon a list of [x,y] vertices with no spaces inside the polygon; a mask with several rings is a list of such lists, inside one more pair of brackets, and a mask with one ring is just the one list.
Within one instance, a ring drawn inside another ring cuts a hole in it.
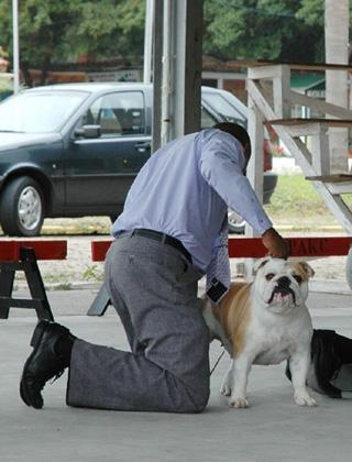
[{"label": "grey trousers worn by the kneeling man", "polygon": [[75,342],[67,404],[121,410],[201,411],[209,399],[209,332],[200,272],[174,248],[133,235],[106,260],[106,285],[131,352]]}]

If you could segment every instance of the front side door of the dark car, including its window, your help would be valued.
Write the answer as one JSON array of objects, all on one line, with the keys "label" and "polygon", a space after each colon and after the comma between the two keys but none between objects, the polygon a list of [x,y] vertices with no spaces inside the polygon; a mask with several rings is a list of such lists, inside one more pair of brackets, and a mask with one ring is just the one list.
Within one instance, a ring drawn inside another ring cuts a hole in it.
[{"label": "front side door of the dark car, including its window", "polygon": [[114,213],[151,155],[143,92],[121,90],[98,97],[80,124],[100,125],[101,135],[72,140],[65,165],[66,206],[87,215]]}]

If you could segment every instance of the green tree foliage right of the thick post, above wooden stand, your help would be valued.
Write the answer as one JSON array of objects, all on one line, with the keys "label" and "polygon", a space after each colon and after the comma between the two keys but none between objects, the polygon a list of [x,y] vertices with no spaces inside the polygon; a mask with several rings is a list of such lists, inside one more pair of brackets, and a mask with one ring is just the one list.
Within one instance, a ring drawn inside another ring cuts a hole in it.
[{"label": "green tree foliage right of the thick post, above wooden stand", "polygon": [[[205,52],[224,59],[321,58],[323,12],[306,21],[301,9],[322,0],[205,0]],[[319,11],[319,10],[318,10]]]}]

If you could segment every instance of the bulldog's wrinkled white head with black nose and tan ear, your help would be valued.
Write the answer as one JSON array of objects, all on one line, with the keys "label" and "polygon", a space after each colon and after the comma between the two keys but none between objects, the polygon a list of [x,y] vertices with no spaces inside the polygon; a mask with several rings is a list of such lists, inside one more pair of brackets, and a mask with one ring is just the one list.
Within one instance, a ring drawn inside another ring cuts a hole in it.
[{"label": "bulldog's wrinkled white head with black nose and tan ear", "polygon": [[255,265],[254,288],[267,309],[284,314],[302,305],[308,297],[308,279],[315,273],[306,262],[262,258]]}]

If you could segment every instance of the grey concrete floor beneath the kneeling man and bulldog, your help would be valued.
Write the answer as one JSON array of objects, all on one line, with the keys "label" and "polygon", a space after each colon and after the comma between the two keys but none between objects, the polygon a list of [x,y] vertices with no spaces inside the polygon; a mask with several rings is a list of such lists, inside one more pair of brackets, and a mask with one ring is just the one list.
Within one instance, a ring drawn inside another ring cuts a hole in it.
[{"label": "grey concrete floor beneath the kneeling man and bulldog", "polygon": [[[56,320],[88,341],[127,349],[112,308],[101,318],[86,316],[95,292],[50,292]],[[308,307],[316,328],[352,338],[352,295],[311,293]],[[44,391],[45,407],[28,408],[19,378],[36,323],[32,310],[12,310],[0,320],[1,462],[288,462],[351,460],[352,400],[316,395],[317,408],[294,404],[285,364],[254,366],[249,409],[229,409],[219,395],[229,360],[211,377],[211,397],[201,415],[119,413],[65,406],[65,375]],[[211,363],[221,352],[211,345]],[[157,391],[155,391],[157,393]]]}]

